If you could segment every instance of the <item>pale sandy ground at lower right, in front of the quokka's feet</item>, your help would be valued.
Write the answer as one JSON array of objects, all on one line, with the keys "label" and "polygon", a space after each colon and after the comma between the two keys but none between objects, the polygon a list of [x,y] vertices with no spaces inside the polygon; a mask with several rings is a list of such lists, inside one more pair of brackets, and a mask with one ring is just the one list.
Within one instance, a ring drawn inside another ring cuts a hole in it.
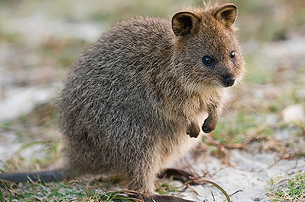
[{"label": "pale sandy ground at lower right, in front of the quokka's feet", "polygon": [[[219,184],[228,194],[239,191],[231,196],[233,202],[268,202],[264,195],[272,177],[303,170],[305,167],[305,159],[277,162],[279,156],[276,153],[251,154],[239,149],[230,150],[230,153],[232,167],[224,166],[219,159],[210,157],[207,162],[202,161],[195,168],[206,171],[205,167],[208,165],[210,176],[205,176],[204,179]],[[177,181],[173,183],[177,187],[183,186]],[[225,200],[224,195],[215,187],[192,186],[192,188],[199,195],[187,189],[181,194],[183,198],[196,199],[198,202]]]}]

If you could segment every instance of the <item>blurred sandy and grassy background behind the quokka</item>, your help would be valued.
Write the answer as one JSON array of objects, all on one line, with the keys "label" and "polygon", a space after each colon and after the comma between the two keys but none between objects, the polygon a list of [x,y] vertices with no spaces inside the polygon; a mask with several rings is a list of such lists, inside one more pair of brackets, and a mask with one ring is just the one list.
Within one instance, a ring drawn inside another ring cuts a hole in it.
[{"label": "blurred sandy and grassy background behind the quokka", "polygon": [[[247,73],[211,137],[226,149],[304,158],[305,0],[232,2]],[[0,169],[61,161],[54,106],[81,51],[117,21],[170,19],[181,5],[202,0],[0,0]]]}]

